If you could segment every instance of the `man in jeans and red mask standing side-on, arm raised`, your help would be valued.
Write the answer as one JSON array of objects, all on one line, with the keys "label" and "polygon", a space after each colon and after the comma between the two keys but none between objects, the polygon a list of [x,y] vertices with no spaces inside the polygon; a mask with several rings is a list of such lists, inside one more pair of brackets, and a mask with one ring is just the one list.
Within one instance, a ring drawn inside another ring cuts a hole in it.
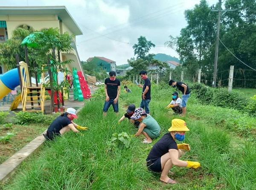
[{"label": "man in jeans and red mask standing side-on, arm raised", "polygon": [[144,85],[138,85],[140,88],[143,89],[140,108],[143,108],[147,114],[150,114],[149,102],[151,100],[151,82],[148,79],[147,71],[140,71],[140,77],[144,80]]}]

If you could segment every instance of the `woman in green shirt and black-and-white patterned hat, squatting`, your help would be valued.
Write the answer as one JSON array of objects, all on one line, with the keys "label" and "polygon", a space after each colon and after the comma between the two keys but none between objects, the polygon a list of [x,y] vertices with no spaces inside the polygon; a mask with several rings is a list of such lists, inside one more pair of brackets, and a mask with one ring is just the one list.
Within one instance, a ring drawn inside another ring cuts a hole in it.
[{"label": "woman in green shirt and black-and-white patterned hat, squatting", "polygon": [[141,122],[135,136],[140,136],[142,133],[146,137],[143,140],[143,143],[151,143],[152,139],[155,139],[160,135],[161,128],[157,121],[151,115],[148,115],[143,108],[135,109],[131,119]]}]

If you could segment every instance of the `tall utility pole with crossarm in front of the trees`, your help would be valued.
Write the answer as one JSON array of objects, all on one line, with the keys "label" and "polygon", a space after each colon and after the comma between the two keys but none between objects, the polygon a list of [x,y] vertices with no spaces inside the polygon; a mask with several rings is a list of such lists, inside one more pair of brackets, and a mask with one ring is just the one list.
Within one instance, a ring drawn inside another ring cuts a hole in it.
[{"label": "tall utility pole with crossarm in front of the trees", "polygon": [[[218,44],[219,44],[219,35],[220,35],[220,23],[221,23],[221,15],[223,16],[227,11],[236,11],[236,10],[222,10],[221,9],[221,0],[219,0],[219,7],[218,10],[212,10],[212,11],[218,11],[218,23],[217,23],[217,34],[216,34],[216,44],[215,44],[215,58],[214,58],[214,70],[213,70],[213,81],[212,81],[212,87],[216,87],[217,82],[217,68],[218,68]],[[221,12],[223,12],[221,14]]]}]

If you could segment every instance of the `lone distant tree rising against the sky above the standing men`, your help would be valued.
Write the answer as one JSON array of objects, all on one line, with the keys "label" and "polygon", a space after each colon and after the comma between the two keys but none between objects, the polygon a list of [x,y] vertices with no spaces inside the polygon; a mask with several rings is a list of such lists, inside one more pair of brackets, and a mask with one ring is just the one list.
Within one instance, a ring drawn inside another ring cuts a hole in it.
[{"label": "lone distant tree rising against the sky above the standing men", "polygon": [[134,49],[134,55],[137,56],[136,58],[143,59],[143,60],[152,59],[154,55],[152,54],[148,55],[148,52],[152,47],[155,47],[154,43],[152,43],[151,41],[148,41],[146,37],[143,37],[143,36],[140,36],[138,38],[138,43],[132,46],[132,48]]}]

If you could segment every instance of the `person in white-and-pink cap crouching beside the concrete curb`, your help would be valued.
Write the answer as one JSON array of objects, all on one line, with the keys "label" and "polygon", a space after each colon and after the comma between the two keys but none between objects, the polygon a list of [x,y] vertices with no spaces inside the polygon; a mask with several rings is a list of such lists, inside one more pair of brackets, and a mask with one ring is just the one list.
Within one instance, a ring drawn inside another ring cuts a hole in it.
[{"label": "person in white-and-pink cap crouching beside the concrete curb", "polygon": [[70,130],[78,133],[79,130],[77,130],[76,128],[79,125],[72,122],[72,120],[76,118],[76,110],[74,108],[67,108],[67,111],[65,113],[62,113],[51,123],[51,125],[47,129],[46,134],[43,134],[44,138],[47,140],[54,140],[56,136],[61,136]]}]

